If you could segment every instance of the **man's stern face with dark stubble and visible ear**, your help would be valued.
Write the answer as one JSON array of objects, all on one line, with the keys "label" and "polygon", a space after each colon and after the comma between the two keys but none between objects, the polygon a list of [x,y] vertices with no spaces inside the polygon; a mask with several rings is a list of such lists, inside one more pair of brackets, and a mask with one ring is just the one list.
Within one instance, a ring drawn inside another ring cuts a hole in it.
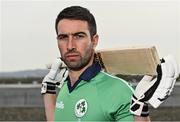
[{"label": "man's stern face with dark stubble and visible ear", "polygon": [[70,70],[80,70],[93,60],[98,36],[91,38],[86,21],[62,19],[57,39],[62,60]]}]

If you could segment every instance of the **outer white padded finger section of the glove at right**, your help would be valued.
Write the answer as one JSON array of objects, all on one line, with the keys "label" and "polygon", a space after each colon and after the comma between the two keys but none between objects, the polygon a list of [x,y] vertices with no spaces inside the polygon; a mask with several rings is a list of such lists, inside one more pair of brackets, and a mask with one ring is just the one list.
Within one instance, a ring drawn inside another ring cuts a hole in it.
[{"label": "outer white padded finger section of the glove at right", "polygon": [[165,63],[161,64],[162,78],[159,86],[154,92],[153,96],[149,99],[149,103],[157,108],[163,103],[171,94],[176,79],[179,76],[178,65],[173,56],[164,57]]}]

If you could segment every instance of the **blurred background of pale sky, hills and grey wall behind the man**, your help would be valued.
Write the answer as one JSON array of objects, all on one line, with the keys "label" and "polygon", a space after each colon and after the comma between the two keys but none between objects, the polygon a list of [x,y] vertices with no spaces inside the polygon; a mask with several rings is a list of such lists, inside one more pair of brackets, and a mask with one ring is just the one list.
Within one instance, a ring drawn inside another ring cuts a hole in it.
[{"label": "blurred background of pale sky, hills and grey wall behind the man", "polygon": [[[159,57],[173,54],[180,64],[179,0],[1,0],[0,120],[45,120],[41,81],[46,65],[59,57],[55,19],[65,7],[87,7],[97,21],[97,49],[155,46]],[[137,82],[142,76],[124,76]],[[158,109],[156,121],[180,121],[179,80]]]}]

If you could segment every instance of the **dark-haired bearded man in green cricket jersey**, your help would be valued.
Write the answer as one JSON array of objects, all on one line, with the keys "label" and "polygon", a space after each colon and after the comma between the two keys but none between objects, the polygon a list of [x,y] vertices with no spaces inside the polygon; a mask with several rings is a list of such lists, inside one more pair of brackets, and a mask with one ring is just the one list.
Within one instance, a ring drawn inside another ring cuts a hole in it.
[{"label": "dark-haired bearded man in green cricket jersey", "polygon": [[[103,72],[96,61],[99,37],[89,10],[80,6],[65,8],[57,16],[55,27],[61,59],[68,71],[58,59],[43,80],[47,120],[134,121],[129,110],[132,88]],[[56,98],[57,83],[61,89]],[[135,120],[149,121],[149,117],[135,116]]]}]

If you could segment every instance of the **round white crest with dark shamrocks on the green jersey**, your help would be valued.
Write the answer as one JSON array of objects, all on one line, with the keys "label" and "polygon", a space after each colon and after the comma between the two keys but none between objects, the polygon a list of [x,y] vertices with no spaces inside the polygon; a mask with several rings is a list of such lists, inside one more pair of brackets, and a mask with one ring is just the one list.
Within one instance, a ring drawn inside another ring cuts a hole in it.
[{"label": "round white crest with dark shamrocks on the green jersey", "polygon": [[77,117],[83,117],[87,112],[87,108],[88,108],[87,101],[85,99],[80,99],[76,103],[74,108],[75,115]]}]

